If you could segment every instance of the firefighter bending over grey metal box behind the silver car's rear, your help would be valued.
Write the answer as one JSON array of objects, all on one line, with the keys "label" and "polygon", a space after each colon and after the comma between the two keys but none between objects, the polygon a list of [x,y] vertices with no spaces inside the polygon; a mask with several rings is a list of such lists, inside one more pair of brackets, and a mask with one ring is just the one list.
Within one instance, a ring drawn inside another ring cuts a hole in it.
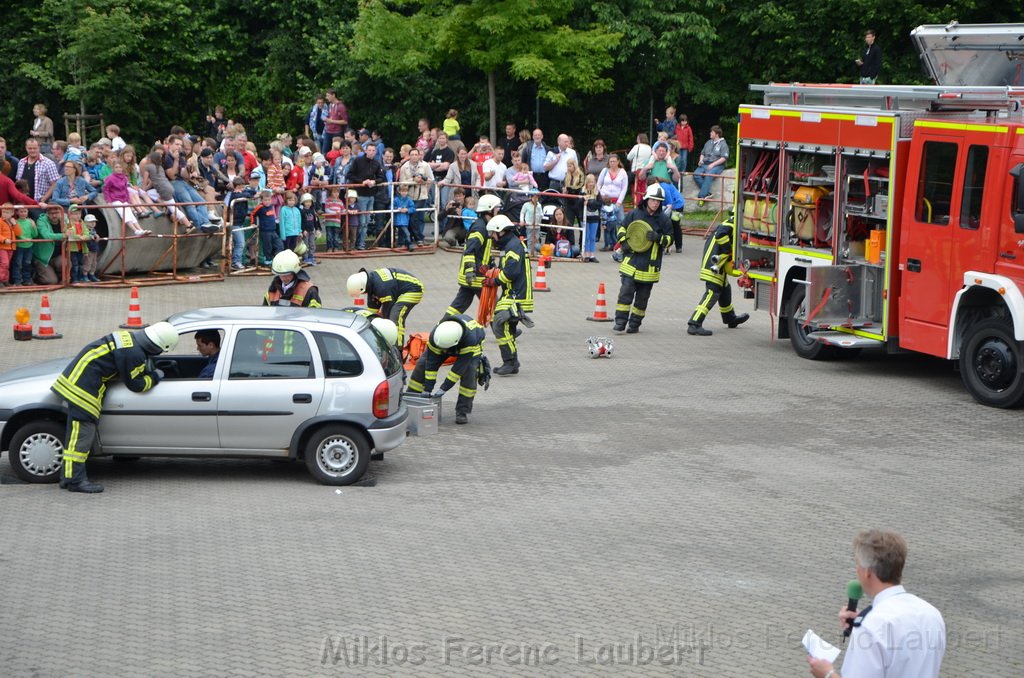
[{"label": "firefighter bending over grey metal box behind the silver car's rear", "polygon": [[444,383],[434,396],[446,393],[459,384],[459,400],[455,406],[455,423],[466,424],[473,411],[473,398],[477,384],[485,384],[489,368],[483,357],[483,339],[486,332],[475,320],[460,313],[441,321],[430,333],[427,349],[416,362],[416,368],[409,379],[409,390],[414,393],[430,392],[437,381],[437,370],[450,356],[455,364],[449,370]]}]

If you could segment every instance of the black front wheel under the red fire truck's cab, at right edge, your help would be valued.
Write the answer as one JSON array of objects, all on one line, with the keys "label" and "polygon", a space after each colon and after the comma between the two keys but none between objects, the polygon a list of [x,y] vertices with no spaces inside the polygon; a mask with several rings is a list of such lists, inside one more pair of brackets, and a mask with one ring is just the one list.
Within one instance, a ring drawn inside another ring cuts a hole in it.
[{"label": "black front wheel under the red fire truck's cab, at right edge", "polygon": [[967,332],[961,348],[961,378],[978,402],[1016,408],[1024,402],[1024,357],[1007,321],[978,323]]}]

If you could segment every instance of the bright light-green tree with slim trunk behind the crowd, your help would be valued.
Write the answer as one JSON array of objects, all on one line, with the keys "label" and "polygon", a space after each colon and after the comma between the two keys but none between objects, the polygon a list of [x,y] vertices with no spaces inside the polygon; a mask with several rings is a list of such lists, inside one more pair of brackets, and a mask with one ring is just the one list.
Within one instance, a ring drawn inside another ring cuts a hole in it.
[{"label": "bright light-green tree with slim trunk behind the crowd", "polygon": [[539,97],[559,104],[573,92],[611,89],[604,72],[622,36],[571,26],[575,8],[574,2],[540,0],[368,0],[355,23],[353,55],[378,77],[447,63],[482,71],[495,138],[499,76],[535,82]]}]

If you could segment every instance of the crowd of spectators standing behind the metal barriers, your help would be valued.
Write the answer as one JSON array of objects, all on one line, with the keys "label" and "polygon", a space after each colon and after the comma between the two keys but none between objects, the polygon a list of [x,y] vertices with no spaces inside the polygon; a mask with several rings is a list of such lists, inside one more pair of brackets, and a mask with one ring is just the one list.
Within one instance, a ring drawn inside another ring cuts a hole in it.
[{"label": "crowd of spectators standing behind the metal barriers", "polygon": [[[231,267],[243,269],[269,265],[286,248],[301,252],[308,264],[315,264],[317,247],[415,250],[424,245],[425,216],[435,203],[438,232],[457,247],[476,219],[475,201],[497,194],[530,253],[597,261],[599,249],[612,249],[631,190],[671,185],[669,195],[679,197],[673,207],[681,210],[678,189],[694,144],[686,116],[677,117],[671,107],[665,120],[655,120],[653,144],[638,134],[625,159],[600,138],[584,154],[567,134],[549,143],[542,129],[511,123],[496,143],[481,135],[470,145],[453,109],[439,128],[420,119],[414,138],[395,150],[377,130],[350,125],[334,89],[316,98],[303,133],[294,139],[279,134],[262,150],[221,107],[207,117],[202,135],[173,127],[141,151],[121,137],[117,125],[88,145],[77,132],[56,139],[46,107],[37,104],[33,113],[24,157],[0,137],[3,286],[56,283],[52,259],[60,241],[67,242],[72,282],[96,282],[94,205],[115,210],[125,238],[150,236],[147,220],[162,216],[177,232],[217,232],[226,225]],[[710,193],[708,176],[720,173],[728,159],[717,127],[712,141],[717,163],[706,167],[701,154],[698,198]],[[110,224],[105,232],[113,232]]]}]

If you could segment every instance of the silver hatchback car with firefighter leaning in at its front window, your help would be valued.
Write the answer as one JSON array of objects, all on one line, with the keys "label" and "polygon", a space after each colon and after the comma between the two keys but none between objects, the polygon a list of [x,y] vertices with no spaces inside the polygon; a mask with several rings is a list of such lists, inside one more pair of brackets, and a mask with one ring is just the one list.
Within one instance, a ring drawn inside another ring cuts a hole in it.
[{"label": "silver hatchback car with firefighter leaning in at its front window", "polygon": [[[302,459],[318,481],[344,485],[406,438],[400,356],[361,315],[230,306],[168,322],[180,341],[156,358],[164,379],[145,393],[111,382],[94,455]],[[200,378],[209,358],[194,338],[211,330],[220,352]],[[0,450],[29,482],[57,480],[67,420],[49,388],[70,359],[0,375]]]}]

